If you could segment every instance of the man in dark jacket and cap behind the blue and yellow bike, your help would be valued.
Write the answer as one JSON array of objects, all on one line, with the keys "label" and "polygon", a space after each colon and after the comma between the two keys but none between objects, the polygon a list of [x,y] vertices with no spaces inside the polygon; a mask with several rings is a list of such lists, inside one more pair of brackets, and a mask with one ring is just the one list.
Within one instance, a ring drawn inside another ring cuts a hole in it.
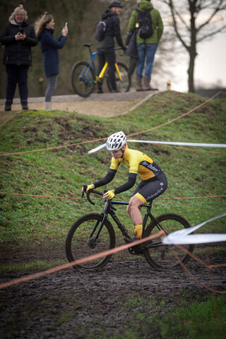
[{"label": "man in dark jacket and cap behind the blue and yellow bike", "polygon": [[[121,8],[123,5],[120,1],[110,1],[109,2],[109,9],[105,11],[105,13],[102,14],[102,20],[107,20],[107,27],[105,30],[105,37],[102,41],[97,42],[97,51],[102,52],[102,54],[98,54],[98,69],[97,74],[99,75],[102,71],[103,66],[105,65],[105,62],[107,61],[109,70],[108,70],[108,76],[109,76],[109,82],[111,83],[111,92],[117,93],[117,85],[115,80],[115,62],[116,57],[114,53],[114,37],[117,40],[117,43],[119,46],[125,51],[126,47],[124,46],[124,43],[121,39],[121,31],[120,31],[120,22],[119,22],[119,14],[121,12]],[[98,84],[98,90],[97,93],[103,93],[102,91],[102,85]]]}]

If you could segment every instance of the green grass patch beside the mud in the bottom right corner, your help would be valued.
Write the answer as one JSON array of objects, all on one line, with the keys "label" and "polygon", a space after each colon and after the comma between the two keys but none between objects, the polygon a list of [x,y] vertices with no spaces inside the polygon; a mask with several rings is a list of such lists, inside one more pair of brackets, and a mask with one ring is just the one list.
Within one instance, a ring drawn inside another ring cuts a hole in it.
[{"label": "green grass patch beside the mud in the bottom right corner", "polygon": [[[169,307],[164,301],[160,302],[161,295],[154,297],[141,297],[141,293],[126,295],[125,300],[118,305],[119,312],[122,308],[127,314],[126,326],[119,335],[108,338],[151,338],[151,333],[156,332],[160,333],[159,338],[162,339],[224,338],[225,295],[217,295],[215,302],[212,295],[197,297],[187,302],[183,299],[184,292],[182,291],[180,298],[182,302],[177,307]],[[147,309],[150,316],[147,316]]]}]

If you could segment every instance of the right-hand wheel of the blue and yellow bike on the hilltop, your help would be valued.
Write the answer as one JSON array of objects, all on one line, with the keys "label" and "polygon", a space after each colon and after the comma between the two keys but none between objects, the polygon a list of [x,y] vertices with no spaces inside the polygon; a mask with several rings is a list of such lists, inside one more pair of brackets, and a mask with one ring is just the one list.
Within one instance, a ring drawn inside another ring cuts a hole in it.
[{"label": "right-hand wheel of the blue and yellow bike on the hilltop", "polygon": [[[119,92],[129,92],[131,88],[131,76],[128,73],[128,67],[121,61],[118,61],[117,65],[119,67],[119,73],[121,76],[120,79],[119,74],[117,73],[117,71],[115,71],[117,90],[119,90]],[[109,91],[112,90],[112,85],[109,81],[109,77],[107,77],[107,87]]]}]

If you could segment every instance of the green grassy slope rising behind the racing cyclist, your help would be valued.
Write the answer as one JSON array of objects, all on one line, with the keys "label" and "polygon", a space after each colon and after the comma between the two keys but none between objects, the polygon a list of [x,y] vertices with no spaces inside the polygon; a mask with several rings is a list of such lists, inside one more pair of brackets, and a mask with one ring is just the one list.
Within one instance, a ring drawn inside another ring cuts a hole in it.
[{"label": "green grassy slope rising behind the racing cyclist", "polygon": [[[0,154],[93,141],[120,130],[127,135],[139,133],[165,124],[204,101],[202,97],[191,93],[168,91],[154,95],[129,114],[110,119],[83,116],[76,112],[22,112],[1,127]],[[114,104],[117,109],[117,102]],[[213,100],[182,119],[131,138],[226,143],[225,112],[225,100]],[[90,184],[107,173],[110,162],[107,150],[104,148],[88,154],[88,150],[103,142],[1,156],[0,191],[80,198],[83,184]],[[191,225],[197,225],[225,210],[225,198],[173,199],[225,195],[225,155],[146,143],[130,143],[129,147],[148,154],[167,175],[168,189],[153,203],[154,215],[178,213],[189,220]],[[202,149],[224,152],[222,148]],[[119,167],[114,182],[108,184],[107,188],[123,184],[127,172],[126,167]],[[126,191],[119,194],[118,198],[129,199],[132,192],[133,189]],[[163,198],[168,200],[161,200]],[[78,217],[102,210],[99,202],[91,206],[85,199],[0,194],[0,201],[0,242],[8,249],[11,246],[21,249],[40,245],[60,246],[64,244],[69,227]],[[117,213],[124,225],[132,229],[125,208],[118,208]],[[205,225],[198,232],[225,232],[225,218]]]}]

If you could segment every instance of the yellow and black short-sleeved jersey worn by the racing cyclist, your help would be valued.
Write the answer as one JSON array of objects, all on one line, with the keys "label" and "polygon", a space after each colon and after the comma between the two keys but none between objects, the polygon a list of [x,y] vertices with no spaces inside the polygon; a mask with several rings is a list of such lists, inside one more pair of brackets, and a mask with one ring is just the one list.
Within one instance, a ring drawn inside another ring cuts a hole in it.
[{"label": "yellow and black short-sleeved jersey worn by the racing cyclist", "polygon": [[142,180],[148,180],[162,174],[162,169],[155,161],[139,150],[126,148],[123,158],[116,160],[112,157],[110,169],[117,170],[120,163],[129,167],[129,173],[140,174]]}]

